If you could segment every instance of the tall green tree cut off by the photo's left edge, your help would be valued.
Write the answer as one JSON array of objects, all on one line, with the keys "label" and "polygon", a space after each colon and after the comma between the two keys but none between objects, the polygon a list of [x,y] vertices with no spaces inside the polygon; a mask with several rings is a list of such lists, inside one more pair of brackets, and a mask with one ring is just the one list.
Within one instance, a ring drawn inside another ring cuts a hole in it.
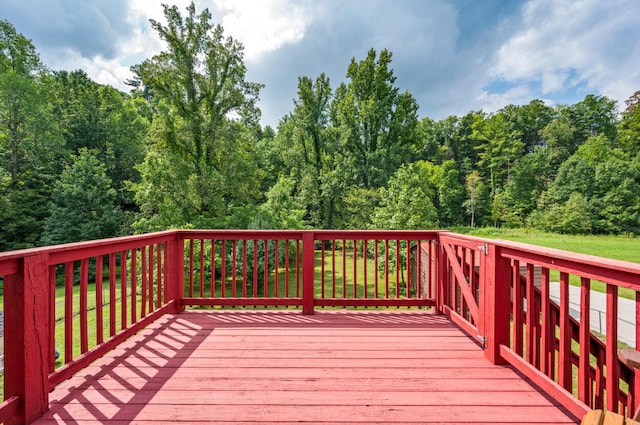
[{"label": "tall green tree cut off by the photo's left edge", "polygon": [[31,41],[0,20],[0,250],[38,243],[62,168],[49,87]]}]

